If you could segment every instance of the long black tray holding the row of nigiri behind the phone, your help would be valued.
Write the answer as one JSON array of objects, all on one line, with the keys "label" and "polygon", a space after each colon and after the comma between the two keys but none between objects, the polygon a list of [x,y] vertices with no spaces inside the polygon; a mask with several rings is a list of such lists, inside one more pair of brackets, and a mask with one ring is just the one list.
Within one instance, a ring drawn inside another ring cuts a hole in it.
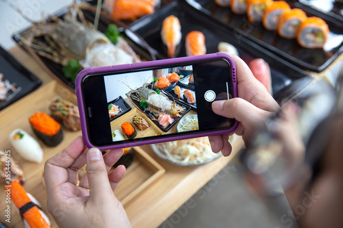
[{"label": "long black tray holding the row of nigiri behind the phone", "polygon": [[[229,42],[237,47],[240,57],[247,63],[255,58],[263,58],[271,68],[272,89],[274,98],[277,100],[281,94],[280,91],[292,81],[309,75],[300,68],[290,64],[283,58],[265,50],[255,42],[241,37],[240,40],[235,38],[233,30],[223,31],[222,26],[211,20],[204,19],[204,16],[198,10],[193,9],[185,2],[172,2],[150,16],[144,16],[130,25],[133,31],[136,31],[149,45],[154,49],[156,57],[159,59],[167,58],[163,51],[163,42],[161,40],[162,21],[165,17],[174,14],[181,23],[182,40],[180,42],[180,52],[178,57],[185,56],[185,35],[192,30],[202,31],[206,36],[207,53],[216,53],[219,42]],[[128,34],[130,37],[130,34]]]}]

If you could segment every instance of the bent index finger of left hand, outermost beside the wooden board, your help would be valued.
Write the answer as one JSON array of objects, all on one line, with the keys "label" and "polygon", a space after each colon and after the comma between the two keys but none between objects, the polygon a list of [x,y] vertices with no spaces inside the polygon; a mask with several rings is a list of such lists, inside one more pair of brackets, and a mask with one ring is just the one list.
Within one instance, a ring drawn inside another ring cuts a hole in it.
[{"label": "bent index finger of left hand, outermost beside the wooden board", "polygon": [[66,149],[45,162],[44,177],[47,192],[53,192],[57,186],[68,181],[67,168],[73,164],[83,149],[84,142],[79,136]]}]

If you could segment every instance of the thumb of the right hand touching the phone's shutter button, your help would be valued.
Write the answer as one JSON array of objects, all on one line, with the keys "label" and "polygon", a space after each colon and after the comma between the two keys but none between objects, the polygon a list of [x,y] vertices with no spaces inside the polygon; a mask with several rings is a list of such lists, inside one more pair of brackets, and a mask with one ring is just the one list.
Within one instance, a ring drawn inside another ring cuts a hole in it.
[{"label": "thumb of the right hand touching the phone's shutter button", "polygon": [[212,110],[215,114],[227,118],[235,118],[244,126],[255,127],[269,116],[269,112],[252,105],[241,98],[233,98],[224,101],[214,101]]}]

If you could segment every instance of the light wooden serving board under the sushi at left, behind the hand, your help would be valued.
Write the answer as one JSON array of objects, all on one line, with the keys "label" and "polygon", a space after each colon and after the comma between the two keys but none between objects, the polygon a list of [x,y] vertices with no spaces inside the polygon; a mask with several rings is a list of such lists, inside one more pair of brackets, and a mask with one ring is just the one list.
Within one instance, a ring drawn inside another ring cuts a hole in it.
[{"label": "light wooden serving board under the sushi at left, behind the hand", "polygon": [[[36,138],[29,126],[28,118],[34,112],[45,111],[49,114],[49,104],[55,97],[62,97],[69,99],[73,103],[77,103],[75,93],[68,88],[58,84],[56,81],[51,81],[49,84],[39,88],[27,97],[10,105],[0,112],[0,150],[10,150],[11,157],[16,160],[21,168],[23,168],[26,182],[23,187],[31,193],[42,205],[43,211],[49,216],[51,220],[51,227],[57,227],[54,219],[47,212],[47,192],[43,184],[43,170],[44,163],[49,157],[52,157],[70,144],[75,138],[81,135],[81,131],[72,132],[63,129],[64,139],[57,147],[47,147]],[[13,149],[8,136],[14,129],[23,129],[28,134],[38,140],[40,146],[43,148],[44,156],[43,162],[37,164],[35,162],[27,162]],[[156,181],[165,173],[165,169],[159,165],[155,160],[147,155],[140,147],[134,147],[134,160],[130,167],[126,170],[126,175],[123,177],[119,186],[115,190],[117,198],[125,204],[134,199],[147,186]],[[0,183],[0,188],[3,189],[4,183]],[[5,220],[5,192],[0,191],[0,220]],[[11,223],[7,224],[9,227],[23,227],[21,217],[16,212],[15,205],[11,203]]]}]

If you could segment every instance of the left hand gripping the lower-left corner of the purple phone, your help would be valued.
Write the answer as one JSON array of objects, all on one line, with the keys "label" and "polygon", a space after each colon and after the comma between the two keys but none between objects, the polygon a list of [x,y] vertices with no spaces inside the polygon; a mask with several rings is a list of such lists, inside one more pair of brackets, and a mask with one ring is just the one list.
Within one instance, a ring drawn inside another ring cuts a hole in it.
[{"label": "left hand gripping the lower-left corner of the purple phone", "polygon": [[[45,162],[47,209],[58,227],[130,227],[123,206],[113,194],[125,174],[125,166],[108,173],[123,150],[102,156],[88,149],[81,137]],[[78,183],[78,170],[87,164],[86,175]]]}]

